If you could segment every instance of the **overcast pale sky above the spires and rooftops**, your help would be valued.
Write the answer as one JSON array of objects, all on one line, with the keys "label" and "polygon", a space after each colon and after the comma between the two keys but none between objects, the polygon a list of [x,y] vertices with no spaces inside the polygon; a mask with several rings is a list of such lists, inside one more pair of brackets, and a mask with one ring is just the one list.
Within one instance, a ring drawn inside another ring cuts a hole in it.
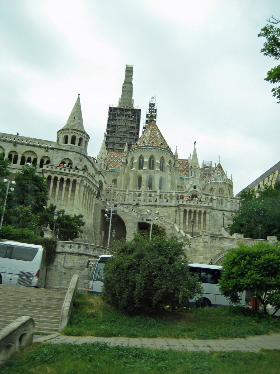
[{"label": "overcast pale sky above the spires and rooftops", "polygon": [[55,141],[80,93],[96,156],[133,64],[141,128],[156,95],[172,151],[220,155],[236,194],[280,159],[277,61],[257,37],[272,14],[279,0],[0,0],[0,131]]}]

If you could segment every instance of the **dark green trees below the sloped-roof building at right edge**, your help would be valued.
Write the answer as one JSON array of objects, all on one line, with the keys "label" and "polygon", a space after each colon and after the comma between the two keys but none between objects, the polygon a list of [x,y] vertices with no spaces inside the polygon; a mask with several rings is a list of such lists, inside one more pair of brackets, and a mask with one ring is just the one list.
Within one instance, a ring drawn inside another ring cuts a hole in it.
[{"label": "dark green trees below the sloped-roof building at right edge", "polygon": [[239,197],[240,208],[234,212],[230,235],[258,238],[261,224],[261,239],[267,235],[280,237],[280,182],[258,191],[246,188]]}]

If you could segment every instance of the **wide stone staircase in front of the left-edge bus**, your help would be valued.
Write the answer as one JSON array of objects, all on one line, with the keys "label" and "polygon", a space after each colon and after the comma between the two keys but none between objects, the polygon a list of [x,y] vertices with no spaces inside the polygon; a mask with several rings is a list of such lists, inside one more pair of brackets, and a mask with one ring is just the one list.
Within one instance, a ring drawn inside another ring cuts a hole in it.
[{"label": "wide stone staircase in front of the left-edge bus", "polygon": [[35,333],[58,332],[66,291],[0,285],[0,330],[21,316],[35,321]]}]

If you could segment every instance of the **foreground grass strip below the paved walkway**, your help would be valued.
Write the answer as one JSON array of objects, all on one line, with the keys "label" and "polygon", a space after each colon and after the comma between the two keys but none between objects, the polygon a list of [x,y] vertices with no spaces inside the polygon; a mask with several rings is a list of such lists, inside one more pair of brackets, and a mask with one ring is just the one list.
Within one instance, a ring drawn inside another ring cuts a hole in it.
[{"label": "foreground grass strip below the paved walkway", "polygon": [[0,369],[1,374],[278,374],[280,350],[178,352],[94,344],[34,344]]}]

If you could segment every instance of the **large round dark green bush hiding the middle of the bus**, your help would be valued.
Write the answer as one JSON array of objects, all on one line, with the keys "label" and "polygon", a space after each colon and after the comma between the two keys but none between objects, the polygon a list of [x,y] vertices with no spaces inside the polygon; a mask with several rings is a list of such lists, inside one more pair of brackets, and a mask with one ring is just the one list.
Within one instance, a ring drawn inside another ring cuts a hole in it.
[{"label": "large round dark green bush hiding the middle of the bus", "polygon": [[129,313],[151,313],[163,306],[182,307],[202,297],[201,283],[192,278],[184,241],[136,234],[132,241],[115,242],[115,255],[104,268],[102,297]]}]

